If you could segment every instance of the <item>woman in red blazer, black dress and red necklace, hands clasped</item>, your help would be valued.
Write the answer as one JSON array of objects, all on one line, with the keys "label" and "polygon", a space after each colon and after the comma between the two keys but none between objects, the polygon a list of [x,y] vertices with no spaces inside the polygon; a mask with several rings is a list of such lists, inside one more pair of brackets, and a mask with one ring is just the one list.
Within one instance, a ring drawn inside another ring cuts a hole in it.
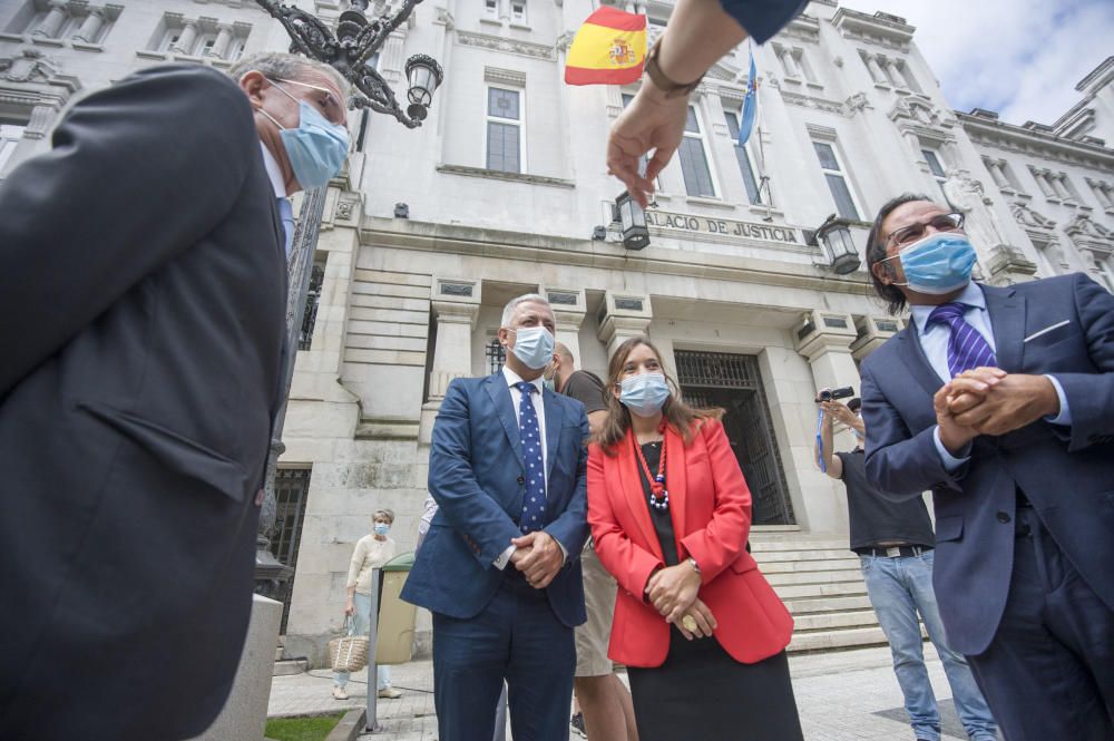
[{"label": "woman in red blazer, black dress and red necklace, hands clasped", "polygon": [[745,549],[751,495],[719,413],[670,392],[644,338],[615,351],[607,390],[588,521],[619,584],[608,655],[627,666],[638,738],[802,739],[793,618]]}]

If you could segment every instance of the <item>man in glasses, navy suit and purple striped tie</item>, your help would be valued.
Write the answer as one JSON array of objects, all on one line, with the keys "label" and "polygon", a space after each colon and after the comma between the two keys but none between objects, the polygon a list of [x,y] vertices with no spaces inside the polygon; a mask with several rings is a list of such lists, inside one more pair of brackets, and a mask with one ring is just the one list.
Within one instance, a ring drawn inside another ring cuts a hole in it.
[{"label": "man in glasses, navy suit and purple striped tie", "polygon": [[931,489],[935,586],[1009,741],[1114,739],[1114,296],[970,282],[962,216],[886,204],[867,262],[910,326],[862,365],[867,475]]}]

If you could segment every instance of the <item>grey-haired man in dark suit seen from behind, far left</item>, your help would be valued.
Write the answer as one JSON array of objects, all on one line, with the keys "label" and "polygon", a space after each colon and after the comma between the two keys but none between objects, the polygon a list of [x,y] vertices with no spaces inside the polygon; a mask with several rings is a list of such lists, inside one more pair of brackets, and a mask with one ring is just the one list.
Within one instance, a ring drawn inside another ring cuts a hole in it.
[{"label": "grey-haired man in dark suit seen from behind, far left", "polygon": [[283,391],[275,196],[317,175],[274,121],[345,116],[332,70],[256,60],[90,95],[0,184],[6,739],[183,739],[228,695]]}]

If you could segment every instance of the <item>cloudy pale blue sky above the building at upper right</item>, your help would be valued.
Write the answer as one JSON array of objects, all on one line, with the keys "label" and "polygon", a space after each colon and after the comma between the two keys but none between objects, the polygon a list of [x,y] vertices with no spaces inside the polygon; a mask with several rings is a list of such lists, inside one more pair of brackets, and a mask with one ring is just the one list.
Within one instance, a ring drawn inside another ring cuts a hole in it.
[{"label": "cloudy pale blue sky above the building at upper right", "polygon": [[1052,124],[1079,101],[1075,85],[1114,55],[1112,0],[840,0],[901,16],[956,110]]}]

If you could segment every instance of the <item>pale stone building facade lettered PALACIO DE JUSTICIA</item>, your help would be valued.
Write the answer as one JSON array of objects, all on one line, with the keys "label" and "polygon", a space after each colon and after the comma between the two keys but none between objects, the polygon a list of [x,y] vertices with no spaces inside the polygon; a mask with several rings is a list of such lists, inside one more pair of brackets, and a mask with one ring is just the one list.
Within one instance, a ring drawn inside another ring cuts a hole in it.
[{"label": "pale stone building facade lettered PALACIO DE JUSTICIA", "polygon": [[[117,2],[0,9],[0,123],[20,134],[0,177],[47,146],[75,94],[157,61],[226,66],[287,46],[248,0]],[[297,4],[330,20],[348,3]],[[501,306],[517,294],[550,295],[558,339],[599,374],[615,345],[649,334],[686,393],[736,415],[752,489],[774,506],[766,521],[834,534],[847,527],[846,500],[812,460],[813,394],[858,390],[858,362],[902,320],[886,315],[861,266],[831,269],[811,240],[829,214],[851,218],[861,252],[891,196],[947,195],[967,213],[985,280],[1084,270],[1114,285],[1114,150],[1100,140],[1114,134],[1111,60],[1054,127],[1014,126],[950,110],[902,19],[827,0],[754,50],[760,127],[742,150],[732,134],[746,48],[710,71],[686,153],[661,175],[647,214],[651,245],[626,250],[604,147],[636,88],[561,82],[594,4],[427,0],[377,60],[399,94],[411,53],[439,59],[446,81],[419,129],[353,114],[354,152],[330,189],[315,323],[281,459],[312,469],[291,655],[320,661],[339,628],[348,559],[374,509],[392,507],[400,549],[413,546],[444,389],[489,372]],[[672,3],[619,4],[646,12],[653,38]],[[409,218],[393,216],[399,203]],[[737,355],[745,362],[733,364]],[[850,436],[838,445],[849,448]],[[419,621],[422,647],[428,615]]]}]

